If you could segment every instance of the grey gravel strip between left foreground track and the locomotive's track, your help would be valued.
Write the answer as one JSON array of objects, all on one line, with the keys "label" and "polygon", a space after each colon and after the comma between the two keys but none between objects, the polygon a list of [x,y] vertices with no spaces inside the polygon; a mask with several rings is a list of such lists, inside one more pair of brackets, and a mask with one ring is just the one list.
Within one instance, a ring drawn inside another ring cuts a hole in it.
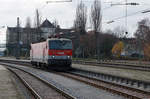
[{"label": "grey gravel strip between left foreground track and the locomotive's track", "polygon": [[56,75],[50,72],[44,72],[29,67],[24,68],[26,68],[26,70],[28,71],[35,72],[36,74],[45,78],[47,81],[53,84],[55,83],[57,87],[72,94],[78,99],[124,99],[124,97],[111,94],[104,90],[100,90],[98,88],[92,87],[76,80],[68,79],[60,75]]}]

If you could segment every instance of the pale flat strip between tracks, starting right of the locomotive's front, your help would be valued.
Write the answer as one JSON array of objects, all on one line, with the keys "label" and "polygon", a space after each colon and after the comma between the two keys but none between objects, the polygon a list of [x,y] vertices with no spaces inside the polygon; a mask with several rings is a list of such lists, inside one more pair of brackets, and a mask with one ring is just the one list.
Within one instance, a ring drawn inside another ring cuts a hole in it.
[{"label": "pale flat strip between tracks, starting right of the locomotive's front", "polygon": [[72,64],[72,67],[83,69],[83,70],[99,72],[99,73],[127,77],[131,79],[150,81],[150,72],[146,72],[146,71],[118,69],[118,68],[111,68],[111,67],[100,67],[100,66],[81,65],[81,64]]}]

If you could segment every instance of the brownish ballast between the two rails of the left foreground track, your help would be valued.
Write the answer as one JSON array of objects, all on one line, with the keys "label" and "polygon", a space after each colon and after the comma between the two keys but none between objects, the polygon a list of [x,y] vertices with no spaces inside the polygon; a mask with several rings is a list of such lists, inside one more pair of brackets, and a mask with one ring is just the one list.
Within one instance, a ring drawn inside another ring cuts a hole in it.
[{"label": "brownish ballast between the two rails of the left foreground track", "polygon": [[29,75],[28,73],[22,72],[17,69],[13,69],[21,78],[25,79],[34,90],[43,98],[43,99],[66,99],[61,94],[56,92],[54,89],[43,84],[43,82],[37,80],[35,77]]}]

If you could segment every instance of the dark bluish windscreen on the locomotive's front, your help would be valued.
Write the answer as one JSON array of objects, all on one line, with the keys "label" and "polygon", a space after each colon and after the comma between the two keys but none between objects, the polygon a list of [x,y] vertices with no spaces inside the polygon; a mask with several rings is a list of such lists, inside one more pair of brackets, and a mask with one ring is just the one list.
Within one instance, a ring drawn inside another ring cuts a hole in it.
[{"label": "dark bluish windscreen on the locomotive's front", "polygon": [[55,50],[72,49],[72,42],[68,40],[50,40],[49,49]]}]

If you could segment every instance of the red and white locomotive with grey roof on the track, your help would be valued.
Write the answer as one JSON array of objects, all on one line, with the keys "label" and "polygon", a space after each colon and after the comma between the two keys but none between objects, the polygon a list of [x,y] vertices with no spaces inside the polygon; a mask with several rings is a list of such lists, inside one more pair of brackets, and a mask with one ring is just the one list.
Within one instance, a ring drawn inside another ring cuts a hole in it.
[{"label": "red and white locomotive with grey roof on the track", "polygon": [[68,69],[72,64],[72,41],[65,38],[48,38],[31,44],[31,64],[52,69]]}]

